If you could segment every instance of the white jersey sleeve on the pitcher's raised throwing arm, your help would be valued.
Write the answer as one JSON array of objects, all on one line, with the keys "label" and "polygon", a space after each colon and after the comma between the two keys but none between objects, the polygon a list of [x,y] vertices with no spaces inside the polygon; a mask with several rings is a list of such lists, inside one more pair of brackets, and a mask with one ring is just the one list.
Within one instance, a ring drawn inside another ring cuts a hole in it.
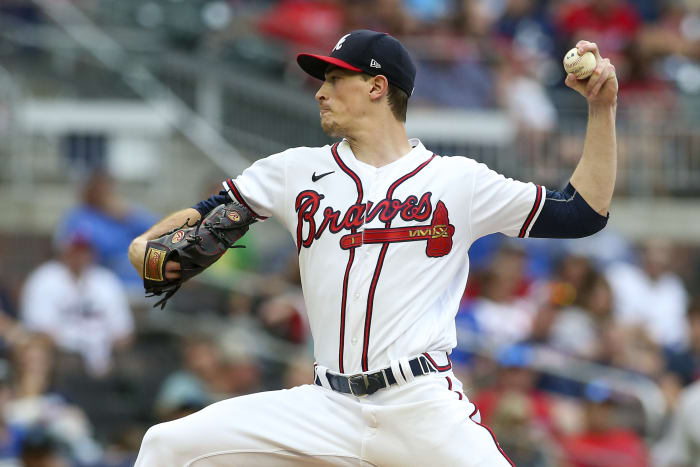
[{"label": "white jersey sleeve on the pitcher's raised throwing arm", "polygon": [[528,237],[544,205],[543,186],[524,183],[477,164],[471,198],[472,239],[501,232]]}]

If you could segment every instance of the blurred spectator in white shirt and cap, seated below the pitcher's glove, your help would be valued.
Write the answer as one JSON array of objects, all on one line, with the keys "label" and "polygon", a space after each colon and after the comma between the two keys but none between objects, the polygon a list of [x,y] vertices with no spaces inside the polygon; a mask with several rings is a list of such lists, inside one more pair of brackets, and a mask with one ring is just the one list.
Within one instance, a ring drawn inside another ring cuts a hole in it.
[{"label": "blurred spectator in white shirt and cap, seated below the pitcher's glove", "polygon": [[32,272],[21,306],[27,329],[81,355],[94,376],[109,371],[113,349],[130,343],[134,324],[123,286],[114,273],[94,264],[91,239],[83,233],[73,233],[59,245],[58,259]]}]

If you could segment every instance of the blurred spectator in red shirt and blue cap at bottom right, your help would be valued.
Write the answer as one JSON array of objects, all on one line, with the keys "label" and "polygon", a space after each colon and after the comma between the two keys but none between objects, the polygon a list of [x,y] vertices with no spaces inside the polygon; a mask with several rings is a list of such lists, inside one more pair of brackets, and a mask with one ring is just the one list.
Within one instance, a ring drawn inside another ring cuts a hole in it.
[{"label": "blurred spectator in red shirt and blue cap at bottom right", "polygon": [[585,427],[568,437],[563,447],[572,467],[643,467],[647,450],[639,435],[620,423],[617,403],[610,388],[592,382],[584,391]]}]

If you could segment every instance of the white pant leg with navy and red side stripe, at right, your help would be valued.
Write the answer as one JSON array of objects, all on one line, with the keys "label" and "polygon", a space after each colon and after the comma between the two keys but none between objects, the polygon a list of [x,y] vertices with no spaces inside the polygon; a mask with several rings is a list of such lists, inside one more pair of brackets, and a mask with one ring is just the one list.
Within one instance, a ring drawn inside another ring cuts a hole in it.
[{"label": "white pant leg with navy and red side stripe, at right", "polygon": [[382,467],[512,466],[495,436],[480,424],[459,381],[451,372],[449,383],[445,376],[416,378],[365,406],[374,427],[366,443],[368,461]]}]

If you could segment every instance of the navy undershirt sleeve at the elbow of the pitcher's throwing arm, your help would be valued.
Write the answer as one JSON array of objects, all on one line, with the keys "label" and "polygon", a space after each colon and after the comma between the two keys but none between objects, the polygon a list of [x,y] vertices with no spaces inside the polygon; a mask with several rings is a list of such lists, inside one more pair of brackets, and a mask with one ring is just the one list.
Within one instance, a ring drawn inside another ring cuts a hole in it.
[{"label": "navy undershirt sleeve at the elbow of the pitcher's throwing arm", "polygon": [[593,235],[608,223],[571,183],[562,191],[547,190],[542,211],[530,229],[532,238],[581,238]]}]

